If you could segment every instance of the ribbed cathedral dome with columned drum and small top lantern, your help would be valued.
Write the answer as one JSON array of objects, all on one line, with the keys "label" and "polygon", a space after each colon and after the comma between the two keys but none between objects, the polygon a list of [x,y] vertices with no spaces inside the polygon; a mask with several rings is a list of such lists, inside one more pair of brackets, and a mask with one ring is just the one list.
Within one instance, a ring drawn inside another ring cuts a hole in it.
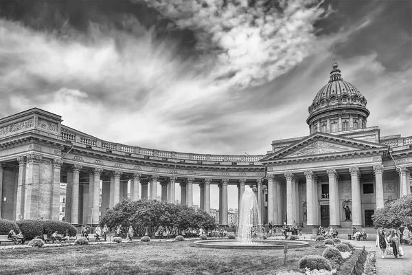
[{"label": "ribbed cathedral dome with columned drum and small top lantern", "polygon": [[[318,91],[308,108],[309,118],[306,122],[310,126],[310,133],[316,131],[332,133],[365,128],[369,116],[366,104],[365,96],[354,85],[343,80],[338,63],[333,63],[328,84]],[[335,117],[336,125],[330,124],[330,118]]]}]

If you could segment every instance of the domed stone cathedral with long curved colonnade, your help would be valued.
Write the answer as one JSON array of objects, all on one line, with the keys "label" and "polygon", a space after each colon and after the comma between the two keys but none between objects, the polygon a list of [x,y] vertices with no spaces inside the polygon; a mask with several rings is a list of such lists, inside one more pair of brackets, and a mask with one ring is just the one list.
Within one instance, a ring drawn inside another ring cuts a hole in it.
[{"label": "domed stone cathedral with long curved colonnade", "polygon": [[[29,109],[0,119],[0,217],[57,220],[66,184],[65,221],[95,225],[123,198],[176,203],[179,192],[180,203],[192,207],[198,185],[200,208],[210,212],[210,198],[218,196],[219,224],[229,225],[228,199],[240,200],[249,185],[265,224],[372,227],[377,208],[411,192],[412,136],[380,136],[378,126],[367,126],[366,106],[334,63],[308,107],[309,135],[275,140],[262,155],[119,144],[66,126],[58,114]],[[228,185],[238,192],[229,194]]]}]

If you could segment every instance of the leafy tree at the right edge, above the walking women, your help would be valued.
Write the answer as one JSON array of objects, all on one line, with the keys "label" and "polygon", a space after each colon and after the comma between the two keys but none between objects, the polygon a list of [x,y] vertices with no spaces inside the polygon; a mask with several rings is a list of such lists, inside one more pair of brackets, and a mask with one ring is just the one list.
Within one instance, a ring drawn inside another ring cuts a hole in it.
[{"label": "leafy tree at the right edge, above the walking women", "polygon": [[377,209],[372,220],[375,228],[399,228],[403,224],[412,224],[412,194]]}]

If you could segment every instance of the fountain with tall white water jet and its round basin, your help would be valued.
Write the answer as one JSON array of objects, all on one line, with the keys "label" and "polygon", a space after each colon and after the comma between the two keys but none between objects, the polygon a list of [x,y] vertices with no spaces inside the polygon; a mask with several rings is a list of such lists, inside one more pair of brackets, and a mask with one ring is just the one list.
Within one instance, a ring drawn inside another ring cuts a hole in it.
[{"label": "fountain with tall white water jet and its round basin", "polygon": [[252,188],[244,186],[244,192],[240,201],[238,218],[237,240],[206,240],[195,241],[198,248],[222,248],[222,249],[253,249],[253,250],[277,250],[309,246],[304,241],[264,240],[262,231],[262,218],[258,199]]}]

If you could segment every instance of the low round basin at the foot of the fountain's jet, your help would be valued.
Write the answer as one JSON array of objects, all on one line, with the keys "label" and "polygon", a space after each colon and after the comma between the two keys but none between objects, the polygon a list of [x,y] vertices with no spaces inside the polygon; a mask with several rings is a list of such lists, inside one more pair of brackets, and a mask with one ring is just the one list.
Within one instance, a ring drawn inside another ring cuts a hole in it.
[{"label": "low round basin at the foot of the fountain's jet", "polygon": [[218,249],[240,249],[240,250],[282,250],[284,245],[288,249],[306,248],[309,243],[306,241],[283,241],[283,240],[252,240],[244,242],[238,240],[205,240],[195,241],[196,248],[218,248]]}]

